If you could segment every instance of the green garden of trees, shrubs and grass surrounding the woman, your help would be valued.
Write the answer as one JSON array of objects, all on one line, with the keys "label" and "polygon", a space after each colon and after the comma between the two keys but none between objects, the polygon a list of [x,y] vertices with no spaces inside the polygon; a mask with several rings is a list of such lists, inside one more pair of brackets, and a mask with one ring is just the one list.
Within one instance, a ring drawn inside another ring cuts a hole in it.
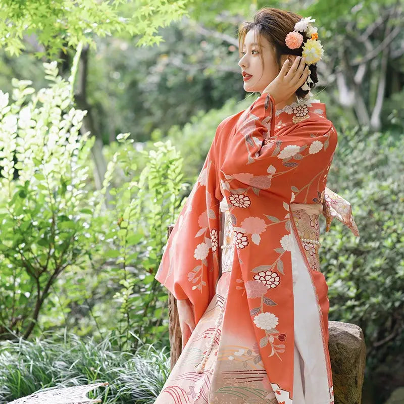
[{"label": "green garden of trees, shrubs and grass surrounding the woman", "polygon": [[257,95],[237,29],[265,6],[319,27],[313,92],[339,134],[328,186],[361,233],[322,222],[330,319],[364,330],[363,403],[403,394],[403,4],[0,0],[0,403],[96,381],[108,404],[154,402],[167,225],[217,125]]}]

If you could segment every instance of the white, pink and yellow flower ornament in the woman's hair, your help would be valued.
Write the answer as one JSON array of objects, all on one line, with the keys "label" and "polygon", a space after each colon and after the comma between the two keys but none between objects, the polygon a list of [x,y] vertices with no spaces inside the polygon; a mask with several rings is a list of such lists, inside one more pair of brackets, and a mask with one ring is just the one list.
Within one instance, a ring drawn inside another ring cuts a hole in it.
[{"label": "white, pink and yellow flower ornament in the woman's hair", "polygon": [[[307,65],[314,65],[322,59],[324,54],[324,49],[317,33],[317,27],[314,27],[311,24],[311,22],[314,21],[316,20],[312,19],[312,17],[302,18],[300,21],[297,21],[296,24],[294,24],[294,30],[290,31],[285,38],[286,46],[289,49],[297,49],[301,46],[304,40],[303,35],[301,35],[300,32],[306,33],[306,36],[308,36],[309,39],[303,43],[303,52],[301,56],[306,58]],[[310,74],[311,72],[309,73],[305,84],[301,86],[302,90],[310,91],[309,83],[313,83],[313,80],[310,78]]]}]

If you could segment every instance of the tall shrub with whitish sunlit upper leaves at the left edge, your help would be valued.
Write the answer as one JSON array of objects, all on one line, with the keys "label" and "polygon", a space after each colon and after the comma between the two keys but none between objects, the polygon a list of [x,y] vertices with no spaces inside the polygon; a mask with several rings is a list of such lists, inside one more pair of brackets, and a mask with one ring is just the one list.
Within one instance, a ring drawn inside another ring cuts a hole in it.
[{"label": "tall shrub with whitish sunlit upper leaves at the left edge", "polygon": [[86,204],[93,143],[79,133],[86,111],[56,62],[44,63],[49,86],[13,79],[0,91],[0,334],[27,337],[58,276],[80,264],[92,210]]}]

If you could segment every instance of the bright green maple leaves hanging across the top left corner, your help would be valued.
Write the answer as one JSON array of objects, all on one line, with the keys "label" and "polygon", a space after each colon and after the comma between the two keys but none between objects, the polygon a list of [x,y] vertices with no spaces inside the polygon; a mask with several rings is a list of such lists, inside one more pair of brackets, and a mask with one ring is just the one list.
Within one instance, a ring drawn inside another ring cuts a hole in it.
[{"label": "bright green maple leaves hanging across the top left corner", "polygon": [[11,56],[19,55],[26,47],[23,35],[35,34],[44,46],[36,56],[55,56],[80,42],[94,47],[93,35],[121,32],[141,36],[139,46],[152,45],[162,40],[154,35],[158,28],[184,15],[185,5],[185,0],[134,0],[129,5],[124,0],[1,0],[0,46]]}]

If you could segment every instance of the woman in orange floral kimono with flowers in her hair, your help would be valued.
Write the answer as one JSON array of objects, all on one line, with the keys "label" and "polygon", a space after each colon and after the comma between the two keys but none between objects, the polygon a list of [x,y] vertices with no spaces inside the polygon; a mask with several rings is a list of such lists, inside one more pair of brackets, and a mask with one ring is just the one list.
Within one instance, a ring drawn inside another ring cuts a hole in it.
[{"label": "woman in orange floral kimono with flowers in her hair", "polygon": [[326,188],[337,133],[310,98],[313,21],[265,8],[240,30],[244,89],[261,95],[219,124],[156,274],[183,337],[156,404],[334,402],[318,215],[359,233]]}]

